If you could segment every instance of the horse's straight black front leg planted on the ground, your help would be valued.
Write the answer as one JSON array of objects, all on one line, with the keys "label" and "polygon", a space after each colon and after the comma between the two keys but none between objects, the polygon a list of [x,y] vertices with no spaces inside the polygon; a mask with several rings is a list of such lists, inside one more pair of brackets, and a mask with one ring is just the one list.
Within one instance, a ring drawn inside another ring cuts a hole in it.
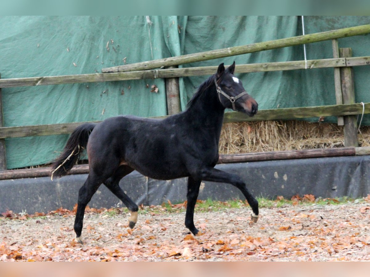
[{"label": "horse's straight black front leg planted on the ground", "polygon": [[194,207],[196,204],[196,199],[199,194],[199,187],[201,185],[201,180],[195,180],[191,176],[188,178],[188,193],[186,198],[188,203],[186,205],[186,214],[185,214],[185,226],[192,232],[195,236],[198,234],[199,230],[194,226]]}]

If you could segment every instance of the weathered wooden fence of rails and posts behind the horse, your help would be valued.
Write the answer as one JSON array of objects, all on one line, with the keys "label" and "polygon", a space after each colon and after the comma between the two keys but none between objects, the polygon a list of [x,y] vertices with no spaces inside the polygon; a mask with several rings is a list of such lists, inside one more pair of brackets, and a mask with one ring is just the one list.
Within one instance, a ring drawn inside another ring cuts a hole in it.
[{"label": "weathered wooden fence of rails and posts behind the horse", "polygon": [[[312,43],[323,40],[333,41],[333,57],[332,59],[318,59],[308,61],[292,61],[292,62],[271,62],[262,64],[245,64],[237,65],[235,72],[262,72],[262,71],[279,71],[279,70],[295,70],[295,69],[315,69],[315,68],[334,68],[335,90],[337,105],[318,106],[318,107],[295,107],[285,109],[269,109],[259,110],[258,114],[254,117],[248,117],[245,114],[237,112],[225,113],[224,122],[243,122],[243,121],[256,121],[256,120],[279,120],[279,119],[299,119],[307,117],[320,117],[320,116],[338,116],[338,123],[344,124],[345,146],[354,147],[358,146],[357,143],[357,123],[356,115],[362,113],[370,113],[370,103],[354,103],[354,86],[353,86],[353,66],[361,66],[370,64],[370,56],[368,57],[351,57],[350,48],[338,49],[337,38],[348,37],[352,35],[361,35],[370,33],[370,25],[362,25],[357,27],[345,28],[340,30],[322,32],[317,34],[303,35],[299,37],[286,38],[282,40],[260,42],[257,44],[244,45],[241,47],[226,48],[208,52],[202,52],[191,55],[184,55],[179,57],[172,57],[160,59],[150,62],[118,66],[114,68],[102,69],[103,72],[111,73],[94,73],[94,74],[81,74],[81,75],[64,75],[64,76],[47,76],[47,77],[33,77],[33,78],[16,78],[16,79],[0,79],[0,97],[1,88],[18,87],[18,86],[38,86],[38,85],[57,85],[65,83],[85,83],[85,82],[107,82],[107,81],[124,81],[132,79],[166,79],[166,93],[172,94],[171,99],[177,96],[177,100],[168,103],[169,114],[179,111],[179,96],[178,96],[178,77],[182,76],[195,76],[195,75],[211,75],[217,70],[217,66],[203,66],[194,68],[175,68],[176,65],[184,64],[187,62],[204,61],[206,59],[214,59],[219,57],[226,57],[232,55],[240,55],[255,51],[263,51],[268,49],[281,48],[286,46]],[[220,54],[221,53],[221,54]],[[154,69],[160,66],[173,66],[174,68]],[[152,70],[142,70],[142,69]],[[1,100],[1,98],[0,98]],[[4,147],[4,138],[11,137],[27,137],[27,136],[47,136],[55,134],[68,134],[71,133],[75,127],[83,122],[75,123],[62,123],[62,124],[48,124],[36,126],[16,126],[16,127],[2,127],[2,105],[0,101],[0,179],[4,178],[24,178],[26,176],[36,177],[37,171],[44,172],[45,169],[30,169],[23,170],[22,174],[17,175],[16,171],[6,170],[6,153]],[[370,154],[368,148],[359,149],[357,151],[349,151],[348,153]],[[305,152],[305,151],[303,151]],[[316,151],[319,153],[320,151]],[[343,151],[342,151],[343,152]],[[341,152],[341,153],[342,153]],[[321,151],[317,157],[327,156],[328,151]],[[332,152],[330,152],[332,153]],[[343,152],[344,153],[344,152]],[[344,154],[340,155],[344,155]],[[347,152],[346,152],[347,153]],[[250,159],[252,153],[249,154]],[[256,154],[260,155],[260,154]],[[289,156],[290,155],[290,156]],[[293,157],[289,153],[286,157]],[[332,155],[332,154],[330,154]],[[266,155],[264,155],[265,157]],[[280,154],[278,157],[282,157]],[[299,157],[304,157],[298,155]],[[227,155],[223,155],[220,161],[230,162]],[[230,156],[231,157],[231,156]],[[234,157],[236,157],[234,155]],[[274,154],[276,157],[276,154]],[[307,156],[309,157],[309,156]],[[240,157],[238,158],[240,160]],[[238,161],[239,161],[238,160]],[[252,158],[253,160],[253,158]],[[244,160],[244,161],[248,161]],[[81,170],[79,171],[78,168]],[[74,173],[86,172],[86,166],[79,166]],[[18,171],[21,173],[21,171]],[[24,173],[26,172],[26,173]],[[28,173],[27,173],[28,172]],[[31,173],[30,173],[31,172]],[[33,172],[33,173],[32,173]],[[36,174],[36,175],[35,175]],[[40,175],[40,174],[39,174]],[[37,175],[37,176],[39,176]],[[21,176],[21,177],[17,177]]]}]

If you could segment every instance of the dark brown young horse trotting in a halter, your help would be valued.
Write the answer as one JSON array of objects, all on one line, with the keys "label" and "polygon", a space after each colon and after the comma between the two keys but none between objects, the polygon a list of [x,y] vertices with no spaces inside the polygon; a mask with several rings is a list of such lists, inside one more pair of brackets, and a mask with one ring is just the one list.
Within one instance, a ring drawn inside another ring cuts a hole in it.
[{"label": "dark brown young horse trotting in a halter", "polygon": [[131,211],[129,226],[137,222],[138,206],[124,193],[119,181],[133,170],[161,180],[188,177],[185,226],[194,234],[194,206],[201,181],[229,183],[243,193],[258,219],[258,201],[237,175],[213,168],[218,161],[218,142],[225,108],[249,116],[257,113],[256,101],[245,92],[233,73],[235,62],[217,72],[199,87],[185,112],[165,119],[116,116],[98,124],[85,123],[71,134],[63,153],[51,165],[52,176],[66,175],[87,148],[90,173],[78,192],[74,223],[76,240],[85,207],[101,184],[107,186]]}]

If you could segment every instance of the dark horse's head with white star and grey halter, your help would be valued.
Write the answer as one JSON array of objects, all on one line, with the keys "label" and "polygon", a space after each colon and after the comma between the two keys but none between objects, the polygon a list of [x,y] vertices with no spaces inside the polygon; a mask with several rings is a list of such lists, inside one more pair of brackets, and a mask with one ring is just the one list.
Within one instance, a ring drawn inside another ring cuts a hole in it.
[{"label": "dark horse's head with white star and grey halter", "polygon": [[242,82],[234,76],[235,62],[225,69],[223,63],[218,66],[215,85],[218,99],[225,108],[254,116],[258,104],[243,88]]}]

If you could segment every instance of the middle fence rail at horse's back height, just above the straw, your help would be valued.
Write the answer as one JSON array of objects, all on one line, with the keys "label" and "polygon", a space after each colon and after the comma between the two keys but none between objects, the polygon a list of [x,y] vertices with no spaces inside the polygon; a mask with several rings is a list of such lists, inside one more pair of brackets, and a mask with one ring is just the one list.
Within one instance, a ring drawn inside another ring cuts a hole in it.
[{"label": "middle fence rail at horse's back height, just above the straw", "polygon": [[[364,113],[370,113],[370,103],[365,103]],[[258,113],[249,117],[244,113],[226,112],[224,123],[227,122],[246,122],[246,121],[261,121],[261,120],[279,120],[279,119],[300,119],[320,116],[343,116],[361,114],[363,110],[362,104],[346,104],[346,105],[329,105],[316,107],[299,107],[299,108],[284,108],[284,109],[268,109],[259,110]],[[164,118],[156,117],[156,118]],[[89,121],[89,123],[99,123],[100,121]],[[33,126],[16,126],[16,127],[0,127],[0,138],[11,137],[31,137],[31,136],[49,136],[57,134],[70,134],[77,127],[85,122],[59,123],[47,125]]]}]

